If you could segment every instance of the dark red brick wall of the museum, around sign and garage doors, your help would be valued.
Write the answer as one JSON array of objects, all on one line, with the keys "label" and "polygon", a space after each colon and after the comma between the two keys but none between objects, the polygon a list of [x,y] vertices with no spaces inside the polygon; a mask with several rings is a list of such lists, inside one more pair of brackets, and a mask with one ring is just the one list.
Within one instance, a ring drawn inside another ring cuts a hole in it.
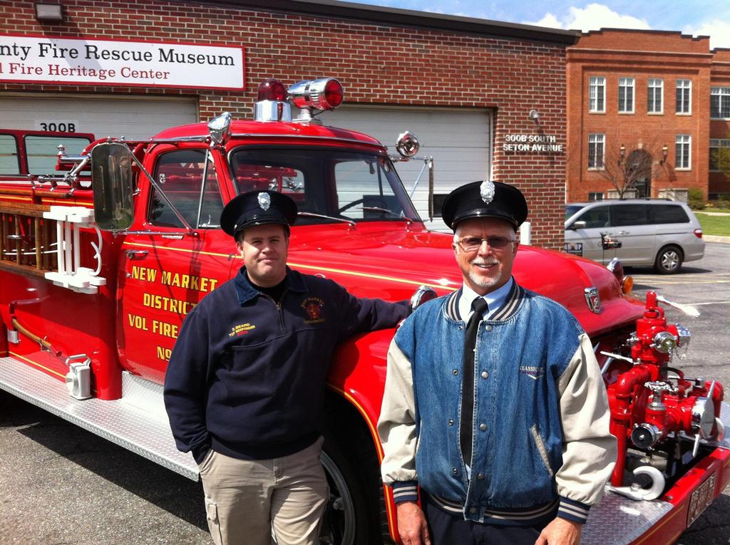
[{"label": "dark red brick wall of the museum, around sign and garage doors", "polygon": [[[534,244],[562,247],[564,154],[501,150],[504,134],[536,132],[528,117],[531,109],[541,115],[537,129],[565,143],[564,46],[160,0],[64,0],[64,23],[40,24],[34,18],[34,2],[4,4],[12,17],[3,18],[0,31],[8,34],[243,45],[246,89],[237,93],[0,84],[0,91],[192,94],[198,97],[201,119],[224,109],[236,117],[250,117],[262,80],[277,77],[291,83],[327,75],[342,82],[350,102],[494,108],[494,179],[525,191]],[[458,127],[454,138],[458,139]]]}]

